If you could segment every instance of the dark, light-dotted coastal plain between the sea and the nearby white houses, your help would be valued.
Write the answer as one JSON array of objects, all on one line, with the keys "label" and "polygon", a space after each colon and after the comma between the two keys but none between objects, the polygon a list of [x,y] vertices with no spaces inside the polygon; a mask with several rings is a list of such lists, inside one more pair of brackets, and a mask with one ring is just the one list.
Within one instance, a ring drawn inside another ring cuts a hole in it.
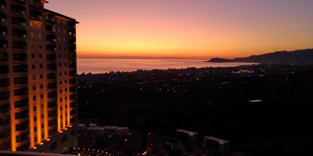
[{"label": "dark, light-dotted coastal plain between the sea and the nearby white houses", "polygon": [[[254,72],[231,73],[240,69]],[[229,140],[231,152],[248,155],[312,150],[312,65],[150,71],[145,78],[143,72],[140,78],[138,72],[78,76],[79,120],[167,136],[186,129],[199,133],[199,144],[213,136]]]}]

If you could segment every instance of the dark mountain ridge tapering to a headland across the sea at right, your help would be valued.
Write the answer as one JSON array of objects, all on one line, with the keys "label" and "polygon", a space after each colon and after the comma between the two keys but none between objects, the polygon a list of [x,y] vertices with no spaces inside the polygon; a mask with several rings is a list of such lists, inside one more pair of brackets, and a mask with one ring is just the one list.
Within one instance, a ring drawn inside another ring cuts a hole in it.
[{"label": "dark mountain ridge tapering to a headland across the sea at right", "polygon": [[295,51],[276,51],[262,55],[252,55],[244,58],[224,59],[212,58],[205,62],[252,62],[252,63],[294,63],[307,64],[313,62],[313,49]]}]

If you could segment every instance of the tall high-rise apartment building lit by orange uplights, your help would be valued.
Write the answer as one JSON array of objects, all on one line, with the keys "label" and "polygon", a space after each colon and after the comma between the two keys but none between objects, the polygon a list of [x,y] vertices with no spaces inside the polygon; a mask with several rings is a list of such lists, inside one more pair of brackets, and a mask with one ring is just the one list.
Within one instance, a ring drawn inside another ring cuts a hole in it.
[{"label": "tall high-rise apartment building lit by orange uplights", "polygon": [[75,19],[44,0],[0,0],[0,150],[77,146]]}]

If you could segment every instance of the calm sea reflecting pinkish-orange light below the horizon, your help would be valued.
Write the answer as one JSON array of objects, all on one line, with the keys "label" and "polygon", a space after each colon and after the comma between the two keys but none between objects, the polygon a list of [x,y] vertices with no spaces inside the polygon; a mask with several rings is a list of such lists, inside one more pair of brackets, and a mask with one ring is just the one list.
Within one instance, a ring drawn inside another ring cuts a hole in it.
[{"label": "calm sea reflecting pinkish-orange light below the horizon", "polygon": [[187,67],[230,67],[255,63],[213,63],[204,60],[159,60],[159,59],[77,59],[77,73],[105,73],[110,71],[136,71],[137,69],[168,69]]}]

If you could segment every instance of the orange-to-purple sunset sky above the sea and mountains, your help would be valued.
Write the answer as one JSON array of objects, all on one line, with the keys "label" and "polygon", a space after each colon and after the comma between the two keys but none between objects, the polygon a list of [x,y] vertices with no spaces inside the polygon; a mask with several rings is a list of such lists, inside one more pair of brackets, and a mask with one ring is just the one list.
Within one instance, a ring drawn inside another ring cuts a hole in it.
[{"label": "orange-to-purple sunset sky above the sea and mountains", "polygon": [[78,57],[209,59],[313,48],[312,0],[48,0],[75,18]]}]

